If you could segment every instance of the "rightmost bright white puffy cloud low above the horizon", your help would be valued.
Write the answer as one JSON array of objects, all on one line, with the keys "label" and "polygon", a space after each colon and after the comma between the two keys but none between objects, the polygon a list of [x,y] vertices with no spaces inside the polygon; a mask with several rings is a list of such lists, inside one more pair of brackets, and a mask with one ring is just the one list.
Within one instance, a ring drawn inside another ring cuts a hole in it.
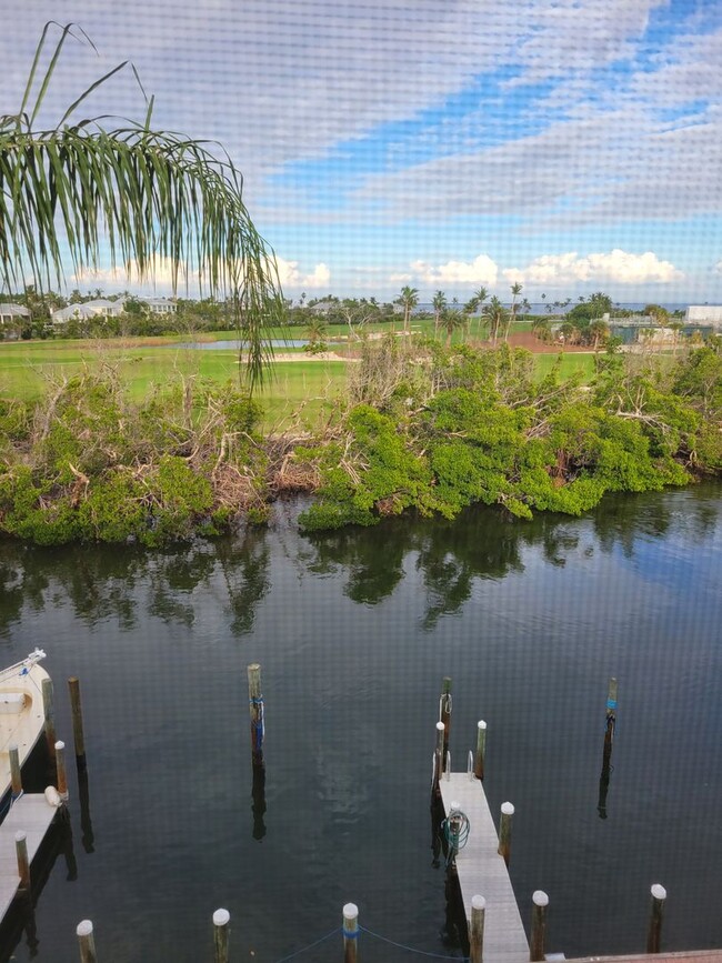
[{"label": "rightmost bright white puffy cloud low above the horizon", "polygon": [[615,248],[612,251],[579,255],[543,254],[525,268],[503,271],[510,281],[533,287],[565,287],[574,282],[590,284],[669,284],[684,277],[671,261],[661,261],[652,251],[634,254]]}]

